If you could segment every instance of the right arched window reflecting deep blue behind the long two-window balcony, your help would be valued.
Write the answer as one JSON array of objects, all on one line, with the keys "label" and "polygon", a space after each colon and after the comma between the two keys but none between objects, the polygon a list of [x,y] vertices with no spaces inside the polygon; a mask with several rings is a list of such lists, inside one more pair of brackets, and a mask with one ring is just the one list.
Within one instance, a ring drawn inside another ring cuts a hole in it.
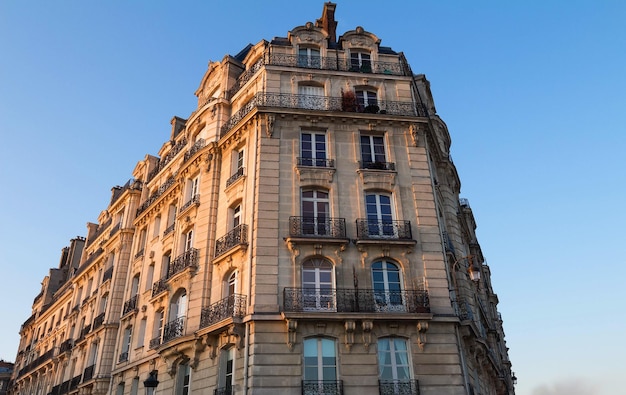
[{"label": "right arched window reflecting deep blue behind the long two-window balcony", "polygon": [[395,263],[377,261],[372,265],[372,285],[377,311],[404,311],[402,277]]}]

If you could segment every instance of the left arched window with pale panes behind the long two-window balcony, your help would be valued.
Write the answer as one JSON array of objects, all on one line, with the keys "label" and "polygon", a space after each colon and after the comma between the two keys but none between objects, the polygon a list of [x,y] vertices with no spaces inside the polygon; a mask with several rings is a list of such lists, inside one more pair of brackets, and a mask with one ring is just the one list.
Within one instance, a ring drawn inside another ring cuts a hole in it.
[{"label": "left arched window with pale panes behind the long two-window balcony", "polygon": [[335,276],[333,265],[322,258],[308,259],[302,264],[303,310],[335,311]]}]

